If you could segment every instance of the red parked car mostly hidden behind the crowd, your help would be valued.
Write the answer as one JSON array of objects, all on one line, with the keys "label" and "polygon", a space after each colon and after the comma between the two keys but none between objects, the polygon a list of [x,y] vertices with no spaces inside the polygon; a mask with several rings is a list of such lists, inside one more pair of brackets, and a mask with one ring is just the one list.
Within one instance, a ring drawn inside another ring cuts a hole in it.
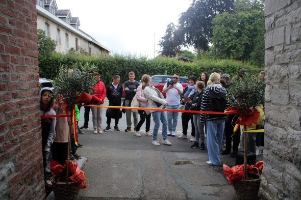
[{"label": "red parked car mostly hidden behind the crowd", "polygon": [[[156,87],[162,93],[164,84],[167,82],[167,78],[172,80],[172,75],[154,75],[154,76],[152,76],[152,85],[154,87]],[[180,76],[180,80],[178,82],[182,84],[183,90],[184,90],[185,87],[188,85],[188,77]],[[122,84],[122,87],[123,87],[123,84]],[[162,93],[162,94],[166,98],[166,93]],[[124,98],[125,96],[126,96],[126,93],[124,92],[124,88],[123,88],[122,98]]]}]

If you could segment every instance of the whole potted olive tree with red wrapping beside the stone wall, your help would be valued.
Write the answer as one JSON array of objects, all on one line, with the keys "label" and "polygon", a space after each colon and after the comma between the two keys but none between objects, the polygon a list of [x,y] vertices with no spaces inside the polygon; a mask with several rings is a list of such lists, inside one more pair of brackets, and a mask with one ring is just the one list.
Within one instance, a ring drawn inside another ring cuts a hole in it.
[{"label": "whole potted olive tree with red wrapping beside the stone wall", "polygon": [[[247,165],[247,126],[258,124],[259,117],[263,113],[265,84],[251,74],[244,74],[243,77],[233,82],[228,88],[227,98],[230,108],[225,113],[240,115],[236,121],[235,128],[243,126],[243,165],[236,165],[230,168],[223,165],[223,172],[230,184],[234,184],[237,199],[256,199],[260,181],[263,162],[255,166]],[[261,110],[261,111],[260,111]],[[235,131],[235,130],[234,130]]]}]

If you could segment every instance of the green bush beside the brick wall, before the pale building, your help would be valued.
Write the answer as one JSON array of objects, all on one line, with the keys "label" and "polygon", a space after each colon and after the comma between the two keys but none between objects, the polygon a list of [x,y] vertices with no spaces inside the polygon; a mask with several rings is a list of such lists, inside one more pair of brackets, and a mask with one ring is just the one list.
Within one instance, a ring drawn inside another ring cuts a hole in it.
[{"label": "green bush beside the brick wall, before the pale building", "polygon": [[45,31],[38,29],[38,52],[39,55],[50,55],[55,52],[57,41],[46,37]]}]

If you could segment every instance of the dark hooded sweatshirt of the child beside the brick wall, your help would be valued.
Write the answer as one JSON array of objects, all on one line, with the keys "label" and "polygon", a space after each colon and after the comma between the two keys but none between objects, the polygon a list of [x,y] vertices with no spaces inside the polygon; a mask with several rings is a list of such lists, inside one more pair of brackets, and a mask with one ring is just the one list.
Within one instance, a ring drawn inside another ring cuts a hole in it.
[{"label": "dark hooded sweatshirt of the child beside the brick wall", "polygon": [[[56,112],[52,109],[54,99],[51,98],[50,103],[47,105],[47,108],[44,109],[43,103],[42,103],[42,95],[45,91],[50,91],[53,93],[51,88],[45,87],[42,88],[40,91],[40,113],[41,116],[48,116],[48,115],[56,115]],[[41,120],[41,128],[42,128],[42,148],[43,151],[49,152],[50,146],[53,143],[55,136],[56,136],[56,118],[46,118]]]}]

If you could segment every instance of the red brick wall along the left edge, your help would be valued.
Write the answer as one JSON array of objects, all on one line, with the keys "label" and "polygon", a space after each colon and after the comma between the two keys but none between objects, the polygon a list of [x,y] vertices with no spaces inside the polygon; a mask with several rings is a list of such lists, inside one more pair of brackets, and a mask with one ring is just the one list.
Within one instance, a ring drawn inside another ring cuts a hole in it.
[{"label": "red brick wall along the left edge", "polygon": [[43,199],[36,0],[0,0],[0,199]]}]

